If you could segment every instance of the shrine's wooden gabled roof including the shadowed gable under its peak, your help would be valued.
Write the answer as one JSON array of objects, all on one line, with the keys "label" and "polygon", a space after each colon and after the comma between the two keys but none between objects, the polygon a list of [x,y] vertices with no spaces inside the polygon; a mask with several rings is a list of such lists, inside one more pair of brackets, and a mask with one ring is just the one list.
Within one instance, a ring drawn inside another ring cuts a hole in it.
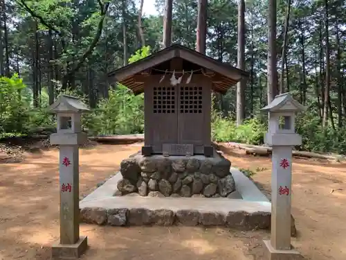
[{"label": "shrine's wooden gabled roof including the shadowed gable under its peak", "polygon": [[194,71],[192,72],[193,75],[203,74],[206,76],[212,82],[212,89],[221,94],[225,94],[231,86],[240,80],[248,78],[248,72],[193,51],[181,44],[173,44],[142,60],[111,71],[108,76],[113,81],[131,89],[134,94],[140,94],[144,91],[145,84],[140,82],[136,76],[164,75],[167,71],[172,71],[170,61],[174,59],[181,59],[182,69],[185,73]]}]

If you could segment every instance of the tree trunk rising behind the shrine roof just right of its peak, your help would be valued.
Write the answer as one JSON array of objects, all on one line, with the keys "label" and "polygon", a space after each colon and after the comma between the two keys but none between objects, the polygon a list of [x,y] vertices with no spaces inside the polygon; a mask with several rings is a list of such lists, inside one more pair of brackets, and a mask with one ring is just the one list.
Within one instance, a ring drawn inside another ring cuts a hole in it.
[{"label": "tree trunk rising behind the shrine roof just right of its peak", "polygon": [[197,14],[197,46],[198,52],[206,54],[206,37],[207,37],[207,0],[198,0]]}]

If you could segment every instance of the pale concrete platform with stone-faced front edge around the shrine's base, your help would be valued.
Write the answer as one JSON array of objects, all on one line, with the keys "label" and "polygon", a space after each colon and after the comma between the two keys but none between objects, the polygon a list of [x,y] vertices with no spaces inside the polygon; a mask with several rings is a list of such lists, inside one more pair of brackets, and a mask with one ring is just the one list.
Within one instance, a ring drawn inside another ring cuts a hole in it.
[{"label": "pale concrete platform with stone-faced front edge around the shrine's base", "polygon": [[98,225],[226,225],[269,229],[271,202],[251,180],[230,168],[242,199],[113,196],[121,175],[80,201],[81,220]]}]

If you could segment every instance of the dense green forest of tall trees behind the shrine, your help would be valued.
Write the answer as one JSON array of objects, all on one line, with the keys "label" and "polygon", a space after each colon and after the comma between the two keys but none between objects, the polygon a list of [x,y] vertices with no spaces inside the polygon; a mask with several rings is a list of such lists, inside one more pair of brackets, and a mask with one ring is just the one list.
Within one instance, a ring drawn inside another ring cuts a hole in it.
[{"label": "dense green forest of tall trees behind the shrine", "polygon": [[[213,139],[262,144],[267,126],[260,108],[275,93],[291,92],[308,107],[298,116],[300,149],[345,154],[346,2],[273,2],[205,6],[206,54],[237,67],[242,44],[250,73],[240,89],[243,102],[237,87],[213,94]],[[157,15],[142,14],[143,0],[0,0],[0,138],[53,128],[46,107],[62,93],[92,108],[83,119],[89,135],[143,133],[143,94],[109,83],[107,73],[163,49],[167,3],[172,42],[196,49],[196,0],[156,0]],[[275,35],[272,45],[268,35]],[[275,53],[274,64],[268,53]]]}]

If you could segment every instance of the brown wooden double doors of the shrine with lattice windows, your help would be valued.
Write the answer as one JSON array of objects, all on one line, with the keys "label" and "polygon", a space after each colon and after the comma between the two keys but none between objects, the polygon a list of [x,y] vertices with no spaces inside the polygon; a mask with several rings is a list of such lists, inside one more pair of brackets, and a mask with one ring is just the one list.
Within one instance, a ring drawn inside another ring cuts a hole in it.
[{"label": "brown wooden double doors of the shrine with lattice windows", "polygon": [[210,142],[208,95],[210,99],[209,86],[195,84],[147,89],[145,145],[152,146],[153,153],[203,154],[203,146]]}]

